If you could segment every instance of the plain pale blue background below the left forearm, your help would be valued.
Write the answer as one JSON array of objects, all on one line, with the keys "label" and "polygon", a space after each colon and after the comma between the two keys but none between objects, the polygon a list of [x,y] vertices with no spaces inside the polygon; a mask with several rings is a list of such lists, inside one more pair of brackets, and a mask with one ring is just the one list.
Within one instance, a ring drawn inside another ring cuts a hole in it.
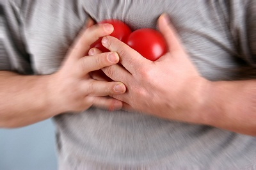
[{"label": "plain pale blue background below the left forearm", "polygon": [[54,130],[51,120],[22,128],[0,128],[0,169],[58,169]]}]

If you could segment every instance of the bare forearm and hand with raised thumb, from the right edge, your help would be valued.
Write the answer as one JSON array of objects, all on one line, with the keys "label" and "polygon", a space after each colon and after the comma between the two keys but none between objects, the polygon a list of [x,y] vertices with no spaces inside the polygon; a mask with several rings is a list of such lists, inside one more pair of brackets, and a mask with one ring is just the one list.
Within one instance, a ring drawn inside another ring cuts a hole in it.
[{"label": "bare forearm and hand with raised thumb, from the right edge", "polygon": [[[102,71],[127,88],[113,98],[124,102],[127,110],[256,135],[256,81],[207,81],[190,61],[166,15],[159,17],[158,26],[168,52],[154,62],[112,36],[102,38],[104,47],[120,57],[119,65]],[[95,48],[89,54],[102,55]],[[93,79],[106,79],[99,72],[91,74]]]}]

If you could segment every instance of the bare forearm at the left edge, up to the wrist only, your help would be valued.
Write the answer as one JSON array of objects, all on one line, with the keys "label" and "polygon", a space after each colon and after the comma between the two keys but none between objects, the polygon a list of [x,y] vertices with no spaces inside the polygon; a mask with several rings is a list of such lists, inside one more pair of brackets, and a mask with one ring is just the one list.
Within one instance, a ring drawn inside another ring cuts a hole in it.
[{"label": "bare forearm at the left edge, up to the wrist only", "polygon": [[22,127],[57,114],[48,98],[48,77],[0,71],[0,127]]}]

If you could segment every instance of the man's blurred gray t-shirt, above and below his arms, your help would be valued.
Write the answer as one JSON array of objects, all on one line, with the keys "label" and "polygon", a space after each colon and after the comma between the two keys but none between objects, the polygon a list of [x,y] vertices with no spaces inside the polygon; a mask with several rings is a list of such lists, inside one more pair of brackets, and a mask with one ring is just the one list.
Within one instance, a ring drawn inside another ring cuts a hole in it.
[{"label": "man's blurred gray t-shirt, above and below his arms", "polygon": [[[164,12],[202,76],[256,78],[255,0],[1,0],[0,69],[56,72],[88,17],[134,30]],[[256,137],[219,128],[93,107],[54,123],[60,169],[256,168]]]}]

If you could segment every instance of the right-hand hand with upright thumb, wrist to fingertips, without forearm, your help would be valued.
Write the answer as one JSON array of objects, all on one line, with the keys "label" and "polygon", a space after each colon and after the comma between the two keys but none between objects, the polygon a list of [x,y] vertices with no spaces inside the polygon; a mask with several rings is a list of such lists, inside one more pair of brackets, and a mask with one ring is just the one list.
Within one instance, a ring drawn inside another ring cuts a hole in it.
[{"label": "right-hand hand with upright thumb, wrist to fingertips, without forearm", "polygon": [[[207,81],[189,60],[164,15],[159,18],[159,29],[168,45],[168,52],[154,62],[116,38],[104,37],[103,45],[118,52],[122,66],[113,65],[102,70],[114,81],[124,82],[127,86],[127,93],[113,95],[125,102],[125,109],[191,122],[197,116],[192,111],[200,104],[202,88],[207,86]],[[99,50],[91,49],[89,54],[92,51],[99,55]]]}]

